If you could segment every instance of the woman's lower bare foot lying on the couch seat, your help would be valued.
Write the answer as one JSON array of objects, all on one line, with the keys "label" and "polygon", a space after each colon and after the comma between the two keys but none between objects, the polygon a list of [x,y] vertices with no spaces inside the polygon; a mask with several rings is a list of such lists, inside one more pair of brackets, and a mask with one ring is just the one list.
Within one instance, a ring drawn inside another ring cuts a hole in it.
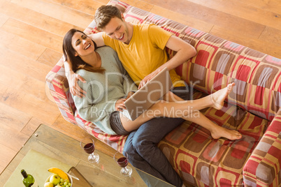
[{"label": "woman's lower bare foot lying on the couch seat", "polygon": [[236,130],[229,130],[221,126],[217,126],[216,129],[212,130],[211,136],[214,139],[219,139],[220,137],[226,137],[229,140],[239,140],[242,135]]}]

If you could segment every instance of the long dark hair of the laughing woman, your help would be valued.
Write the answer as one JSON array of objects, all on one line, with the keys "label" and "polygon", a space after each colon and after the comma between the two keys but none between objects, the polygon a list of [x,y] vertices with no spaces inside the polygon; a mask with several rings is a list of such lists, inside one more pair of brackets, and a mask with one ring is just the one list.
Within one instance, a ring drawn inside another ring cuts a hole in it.
[{"label": "long dark hair of the laughing woman", "polygon": [[[67,60],[67,58],[69,57],[69,60],[71,61],[71,64],[72,64],[73,72],[75,72],[76,70],[79,70],[79,69],[85,69],[85,70],[88,70],[91,72],[102,73],[104,71],[103,68],[95,68],[95,67],[89,65],[88,63],[85,63],[85,61],[83,61],[79,56],[75,57],[76,51],[74,50],[74,48],[71,44],[72,37],[75,32],[84,33],[82,31],[79,31],[78,29],[71,29],[64,36],[64,42],[62,44],[62,51],[64,52],[64,58]],[[85,36],[87,36],[87,35],[85,34]],[[96,50],[96,43],[94,42],[94,40],[93,40],[93,43],[94,43],[94,49]]]}]

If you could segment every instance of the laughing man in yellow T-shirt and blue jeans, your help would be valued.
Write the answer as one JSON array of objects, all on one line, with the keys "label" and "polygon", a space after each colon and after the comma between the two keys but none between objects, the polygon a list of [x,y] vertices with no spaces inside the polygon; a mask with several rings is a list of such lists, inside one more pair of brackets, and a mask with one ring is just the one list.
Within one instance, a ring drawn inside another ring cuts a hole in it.
[{"label": "laughing man in yellow T-shirt and blue jeans", "polygon": [[[122,65],[139,88],[143,87],[160,70],[167,67],[173,81],[174,88],[171,91],[175,93],[174,98],[187,100],[189,97],[188,89],[175,73],[174,68],[196,55],[196,50],[192,45],[153,24],[126,22],[120,10],[115,6],[98,8],[95,21],[96,27],[103,32],[93,34],[90,37],[96,42],[96,45],[108,45],[117,52]],[[172,59],[168,59],[165,47],[177,52]],[[66,72],[70,70],[69,87],[71,93],[83,96],[85,91],[80,89],[77,84],[78,80],[84,82],[83,78],[73,73],[71,63],[65,63],[65,68]],[[210,124],[210,121],[203,114],[199,116],[197,118],[191,117],[190,121],[196,123],[196,121],[203,120],[206,121],[206,126]],[[168,181],[175,186],[182,186],[182,180],[157,144],[183,121],[180,118],[154,118],[147,121],[138,130],[131,132],[124,145],[124,151],[129,154],[130,163],[159,179]],[[220,132],[215,137],[221,137],[222,133],[225,132]],[[229,131],[228,133],[229,139],[239,138],[238,136],[234,137],[234,133]],[[226,136],[224,135],[224,137]]]}]

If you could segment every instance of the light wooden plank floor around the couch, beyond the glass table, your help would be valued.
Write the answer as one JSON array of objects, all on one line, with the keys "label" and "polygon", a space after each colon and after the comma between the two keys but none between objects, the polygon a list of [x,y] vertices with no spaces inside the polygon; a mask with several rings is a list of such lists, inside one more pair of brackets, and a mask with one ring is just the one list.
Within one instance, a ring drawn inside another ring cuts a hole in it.
[{"label": "light wooden plank floor around the couch, beyond the glass table", "polygon": [[[281,59],[280,0],[124,0]],[[50,98],[45,75],[69,29],[85,29],[108,0],[0,0],[0,173],[39,124],[80,140]],[[99,143],[98,149],[105,149]]]}]

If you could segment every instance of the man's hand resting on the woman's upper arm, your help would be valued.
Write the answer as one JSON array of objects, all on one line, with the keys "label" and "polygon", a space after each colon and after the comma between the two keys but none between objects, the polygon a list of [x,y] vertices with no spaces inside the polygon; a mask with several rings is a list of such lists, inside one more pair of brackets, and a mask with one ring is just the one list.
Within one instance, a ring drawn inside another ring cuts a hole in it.
[{"label": "man's hand resting on the woman's upper arm", "polygon": [[69,89],[73,96],[78,96],[79,98],[85,97],[86,91],[82,90],[79,85],[78,81],[86,82],[83,77],[76,73],[69,73]]}]

